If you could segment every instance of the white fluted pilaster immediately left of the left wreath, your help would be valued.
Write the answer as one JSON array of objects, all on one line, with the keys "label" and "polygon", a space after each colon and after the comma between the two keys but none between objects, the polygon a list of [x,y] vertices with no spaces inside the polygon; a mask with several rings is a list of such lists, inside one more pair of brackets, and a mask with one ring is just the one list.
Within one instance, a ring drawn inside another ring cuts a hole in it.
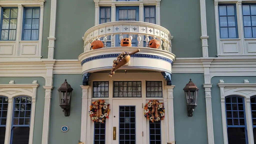
[{"label": "white fluted pilaster immediately left of the left wreath", "polygon": [[[89,85],[81,85],[82,90],[82,115],[81,115],[81,136],[80,141],[86,142],[87,116],[88,116],[88,88]],[[90,122],[90,121],[89,121]]]}]

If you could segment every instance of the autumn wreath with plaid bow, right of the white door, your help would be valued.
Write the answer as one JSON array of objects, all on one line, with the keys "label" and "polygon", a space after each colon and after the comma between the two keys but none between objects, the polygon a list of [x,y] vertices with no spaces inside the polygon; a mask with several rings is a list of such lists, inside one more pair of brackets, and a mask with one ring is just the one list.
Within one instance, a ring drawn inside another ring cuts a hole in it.
[{"label": "autumn wreath with plaid bow, right of the white door", "polygon": [[165,110],[162,102],[158,100],[150,100],[144,106],[144,116],[154,123],[154,121],[160,121],[164,119]]}]

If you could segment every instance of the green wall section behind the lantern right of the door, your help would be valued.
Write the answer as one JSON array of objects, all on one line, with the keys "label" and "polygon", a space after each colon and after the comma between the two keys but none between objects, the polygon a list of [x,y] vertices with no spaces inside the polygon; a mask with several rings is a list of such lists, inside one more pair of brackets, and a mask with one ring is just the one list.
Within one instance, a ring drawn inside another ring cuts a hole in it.
[{"label": "green wall section behind the lantern right of the door", "polygon": [[[192,117],[187,116],[187,102],[183,88],[192,79],[199,88],[198,106]],[[205,93],[203,74],[173,74],[174,130],[176,143],[205,144],[207,139]],[[216,143],[216,142],[215,142]],[[219,143],[218,143],[219,144]]]}]

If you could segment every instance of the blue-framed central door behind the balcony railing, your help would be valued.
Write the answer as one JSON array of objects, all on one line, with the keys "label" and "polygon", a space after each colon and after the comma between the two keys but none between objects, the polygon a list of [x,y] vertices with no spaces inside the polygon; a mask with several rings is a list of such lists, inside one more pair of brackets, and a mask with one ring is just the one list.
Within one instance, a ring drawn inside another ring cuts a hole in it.
[{"label": "blue-framed central door behind the balcony railing", "polygon": [[[119,6],[116,7],[116,21],[139,21],[138,6]],[[116,46],[120,46],[120,35],[116,35]],[[128,34],[123,34],[123,38],[129,38]],[[137,35],[132,35],[132,46],[137,47]]]}]

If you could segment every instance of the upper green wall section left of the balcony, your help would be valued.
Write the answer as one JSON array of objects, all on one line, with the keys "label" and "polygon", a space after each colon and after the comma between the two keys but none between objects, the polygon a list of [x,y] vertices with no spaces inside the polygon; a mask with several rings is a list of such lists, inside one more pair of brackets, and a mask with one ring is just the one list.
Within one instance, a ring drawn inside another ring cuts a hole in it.
[{"label": "upper green wall section left of the balcony", "polygon": [[57,1],[54,59],[78,59],[84,33],[94,26],[92,0]]}]

